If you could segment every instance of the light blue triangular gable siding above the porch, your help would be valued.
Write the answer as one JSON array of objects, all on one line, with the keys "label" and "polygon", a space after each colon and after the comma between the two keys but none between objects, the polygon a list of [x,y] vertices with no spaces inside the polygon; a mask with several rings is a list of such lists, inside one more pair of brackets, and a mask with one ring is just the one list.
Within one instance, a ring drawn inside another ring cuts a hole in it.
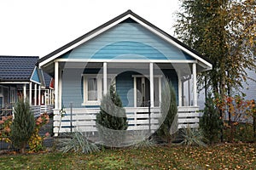
[{"label": "light blue triangular gable siding above the porch", "polygon": [[62,59],[193,59],[137,23],[121,23]]}]

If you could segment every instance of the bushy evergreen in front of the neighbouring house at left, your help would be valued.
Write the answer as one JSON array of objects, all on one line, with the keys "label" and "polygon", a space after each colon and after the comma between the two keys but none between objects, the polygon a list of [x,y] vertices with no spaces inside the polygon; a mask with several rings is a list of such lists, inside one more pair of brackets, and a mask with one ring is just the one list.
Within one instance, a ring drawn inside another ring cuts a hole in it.
[{"label": "bushy evergreen in front of the neighbouring house at left", "polygon": [[27,100],[19,99],[15,105],[14,115],[15,118],[11,125],[10,140],[16,147],[20,148],[20,152],[23,154],[35,127],[35,119]]}]

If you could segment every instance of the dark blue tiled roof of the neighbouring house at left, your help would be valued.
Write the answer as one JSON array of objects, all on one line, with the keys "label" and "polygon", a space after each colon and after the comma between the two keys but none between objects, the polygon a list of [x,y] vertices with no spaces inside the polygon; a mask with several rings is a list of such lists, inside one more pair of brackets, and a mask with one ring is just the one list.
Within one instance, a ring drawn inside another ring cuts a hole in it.
[{"label": "dark blue tiled roof of the neighbouring house at left", "polygon": [[0,56],[0,82],[29,82],[38,56]]}]

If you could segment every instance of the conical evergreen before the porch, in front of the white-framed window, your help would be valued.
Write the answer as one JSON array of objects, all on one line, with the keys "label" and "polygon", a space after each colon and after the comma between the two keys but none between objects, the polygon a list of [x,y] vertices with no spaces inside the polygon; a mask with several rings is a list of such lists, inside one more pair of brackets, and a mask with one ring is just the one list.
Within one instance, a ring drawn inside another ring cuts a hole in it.
[{"label": "conical evergreen before the porch, in front of the white-framed window", "polygon": [[110,86],[109,93],[102,97],[101,111],[96,116],[96,127],[103,144],[113,147],[119,146],[123,141],[128,122],[122,101],[113,85]]}]

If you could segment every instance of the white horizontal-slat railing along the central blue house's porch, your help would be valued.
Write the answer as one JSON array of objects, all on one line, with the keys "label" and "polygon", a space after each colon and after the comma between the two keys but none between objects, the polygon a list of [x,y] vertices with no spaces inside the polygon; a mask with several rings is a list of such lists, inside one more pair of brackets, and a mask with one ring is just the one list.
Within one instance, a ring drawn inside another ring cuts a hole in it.
[{"label": "white horizontal-slat railing along the central blue house's porch", "polygon": [[[72,111],[66,109],[66,113],[61,116],[59,110],[55,110],[55,135],[72,131],[96,132],[96,114],[99,111],[99,108],[73,108]],[[127,130],[149,130],[150,127],[151,131],[155,131],[160,126],[159,107],[150,108],[150,115],[148,114],[148,107],[126,107],[125,111],[129,125]],[[198,107],[178,107],[177,128],[188,125],[189,127],[199,127],[200,115],[197,111]]]}]

